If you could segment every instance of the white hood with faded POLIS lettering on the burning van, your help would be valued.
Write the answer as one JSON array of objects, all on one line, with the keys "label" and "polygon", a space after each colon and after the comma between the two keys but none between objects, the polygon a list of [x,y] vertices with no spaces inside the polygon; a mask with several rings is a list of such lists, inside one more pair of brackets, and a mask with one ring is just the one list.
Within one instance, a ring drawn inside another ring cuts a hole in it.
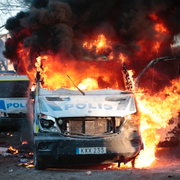
[{"label": "white hood with faded POLIS lettering on the burning van", "polygon": [[39,113],[59,117],[124,117],[136,112],[134,96],[131,93],[114,90],[79,91],[58,89],[39,90]]}]

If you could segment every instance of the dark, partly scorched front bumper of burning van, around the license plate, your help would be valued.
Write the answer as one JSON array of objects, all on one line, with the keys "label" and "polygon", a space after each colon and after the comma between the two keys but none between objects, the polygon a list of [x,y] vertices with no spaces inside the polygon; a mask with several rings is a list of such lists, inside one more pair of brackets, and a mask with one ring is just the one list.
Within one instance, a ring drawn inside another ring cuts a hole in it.
[{"label": "dark, partly scorched front bumper of burning van, around the license plate", "polygon": [[[122,133],[103,138],[82,139],[38,133],[34,137],[39,161],[48,167],[128,162],[143,147],[140,136],[122,138]],[[106,147],[106,154],[77,154],[77,148]]]}]

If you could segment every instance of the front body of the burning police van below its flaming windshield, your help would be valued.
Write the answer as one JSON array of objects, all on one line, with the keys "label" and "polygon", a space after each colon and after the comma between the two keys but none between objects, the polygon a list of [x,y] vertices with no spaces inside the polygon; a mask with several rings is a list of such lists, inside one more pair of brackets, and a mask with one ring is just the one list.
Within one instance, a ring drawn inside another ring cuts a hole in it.
[{"label": "front body of the burning police van below its flaming windshield", "polygon": [[[38,75],[39,76],[39,75]],[[132,162],[143,149],[130,91],[46,90],[34,97],[35,169]]]}]

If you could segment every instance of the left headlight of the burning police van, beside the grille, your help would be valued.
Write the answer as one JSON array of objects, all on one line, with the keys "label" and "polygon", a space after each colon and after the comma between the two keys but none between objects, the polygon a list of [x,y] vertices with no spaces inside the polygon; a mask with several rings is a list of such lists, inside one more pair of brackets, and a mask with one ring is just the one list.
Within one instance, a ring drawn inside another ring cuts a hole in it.
[{"label": "left headlight of the burning police van, beside the grille", "polygon": [[48,132],[58,132],[56,128],[55,118],[52,116],[40,114],[39,116],[40,129]]}]

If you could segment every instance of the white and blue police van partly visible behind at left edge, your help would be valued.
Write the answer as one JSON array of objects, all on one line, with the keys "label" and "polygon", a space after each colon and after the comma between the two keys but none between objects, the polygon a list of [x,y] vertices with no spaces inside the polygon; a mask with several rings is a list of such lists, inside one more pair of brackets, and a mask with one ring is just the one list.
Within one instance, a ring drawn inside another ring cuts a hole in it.
[{"label": "white and blue police van partly visible behind at left edge", "polygon": [[15,73],[0,73],[0,127],[16,126],[27,119],[29,79]]}]

